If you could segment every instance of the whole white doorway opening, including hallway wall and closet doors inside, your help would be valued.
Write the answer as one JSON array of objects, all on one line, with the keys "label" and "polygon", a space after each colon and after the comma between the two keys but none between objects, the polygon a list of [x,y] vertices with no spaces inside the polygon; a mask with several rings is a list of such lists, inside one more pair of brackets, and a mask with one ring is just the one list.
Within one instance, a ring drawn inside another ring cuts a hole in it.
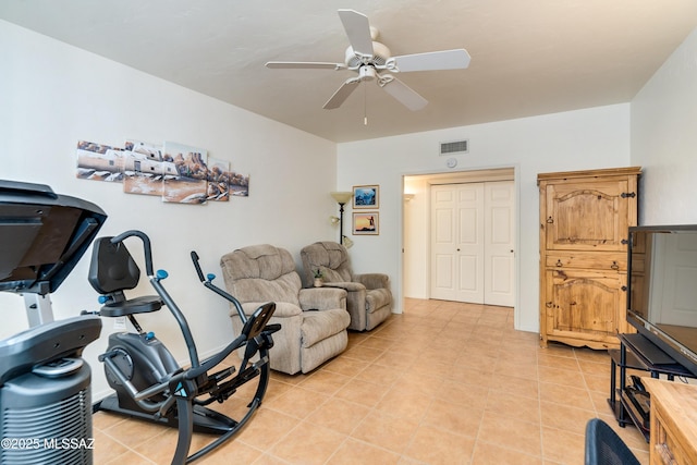
[{"label": "whole white doorway opening, including hallway wall and closet doors inside", "polygon": [[514,307],[514,169],[404,176],[403,295]]}]

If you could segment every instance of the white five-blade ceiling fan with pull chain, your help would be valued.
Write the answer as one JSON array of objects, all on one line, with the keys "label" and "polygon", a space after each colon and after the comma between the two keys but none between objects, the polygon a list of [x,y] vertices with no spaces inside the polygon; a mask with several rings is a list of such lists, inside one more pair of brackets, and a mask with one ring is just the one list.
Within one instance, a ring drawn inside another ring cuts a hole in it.
[{"label": "white five-blade ceiling fan with pull chain", "polygon": [[270,69],[350,70],[358,73],[350,77],[331,96],[323,108],[332,110],[341,107],[363,82],[376,81],[388,94],[409,110],[426,107],[428,100],[418,95],[391,73],[411,71],[463,70],[469,65],[469,53],[465,49],[432,51],[426,53],[391,57],[390,49],[375,41],[378,29],[370,27],[368,16],[354,10],[339,10],[351,46],[346,49],[343,63],[269,61]]}]

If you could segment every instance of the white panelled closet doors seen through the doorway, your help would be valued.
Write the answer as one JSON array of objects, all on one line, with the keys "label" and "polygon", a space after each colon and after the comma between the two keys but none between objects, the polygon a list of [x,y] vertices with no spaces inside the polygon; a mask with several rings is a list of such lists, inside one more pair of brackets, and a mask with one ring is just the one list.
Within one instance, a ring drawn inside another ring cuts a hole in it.
[{"label": "white panelled closet doors seen through the doorway", "polygon": [[513,182],[431,187],[431,298],[513,305]]}]

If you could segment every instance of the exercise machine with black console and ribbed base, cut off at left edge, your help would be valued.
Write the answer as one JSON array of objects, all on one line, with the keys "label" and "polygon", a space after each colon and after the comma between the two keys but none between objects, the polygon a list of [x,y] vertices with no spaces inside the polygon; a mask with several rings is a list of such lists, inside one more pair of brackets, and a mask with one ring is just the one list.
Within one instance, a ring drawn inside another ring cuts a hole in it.
[{"label": "exercise machine with black console and ribbed base, cut off at left edge", "polygon": [[[93,464],[91,370],[83,351],[99,338],[101,319],[57,318],[50,295],[106,221],[87,200],[0,180],[0,292],[24,297],[29,326],[0,340],[2,465]],[[3,319],[21,318],[2,307]]]}]

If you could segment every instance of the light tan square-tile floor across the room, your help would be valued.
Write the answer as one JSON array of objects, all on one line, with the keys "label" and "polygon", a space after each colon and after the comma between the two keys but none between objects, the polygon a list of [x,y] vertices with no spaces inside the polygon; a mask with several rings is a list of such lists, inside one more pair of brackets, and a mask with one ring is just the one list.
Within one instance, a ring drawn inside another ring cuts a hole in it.
[{"label": "light tan square-tile floor across the room", "polygon": [[[350,333],[311,374],[273,372],[264,405],[200,464],[583,464],[600,417],[648,463],[636,428],[608,406],[603,351],[515,331],[513,310],[406,299],[403,315]],[[236,394],[235,394],[236,395]],[[235,408],[235,397],[219,409]],[[169,464],[176,431],[99,412],[96,464]],[[211,439],[195,435],[192,451]]]}]

